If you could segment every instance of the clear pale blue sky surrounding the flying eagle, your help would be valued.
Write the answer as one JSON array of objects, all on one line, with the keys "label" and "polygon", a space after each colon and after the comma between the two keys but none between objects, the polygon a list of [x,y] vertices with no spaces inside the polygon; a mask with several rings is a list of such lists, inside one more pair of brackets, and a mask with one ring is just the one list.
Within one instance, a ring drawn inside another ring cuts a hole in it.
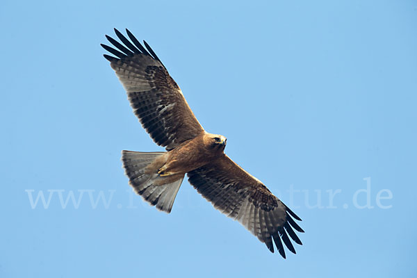
[{"label": "clear pale blue sky surrounding the flying eagle", "polygon": [[[415,277],[416,24],[415,1],[1,1],[0,277]],[[120,151],[163,149],[102,57],[113,27],[300,215],[296,255],[188,181],[170,215],[131,194]]]}]

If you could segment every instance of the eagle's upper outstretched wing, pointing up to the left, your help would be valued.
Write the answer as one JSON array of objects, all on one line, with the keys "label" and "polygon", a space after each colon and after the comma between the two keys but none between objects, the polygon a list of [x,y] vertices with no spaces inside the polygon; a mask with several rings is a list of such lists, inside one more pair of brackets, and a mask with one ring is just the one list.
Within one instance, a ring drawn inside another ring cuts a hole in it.
[{"label": "eagle's upper outstretched wing, pointing up to the left", "polygon": [[117,58],[106,54],[104,58],[111,62],[133,112],[156,144],[170,150],[202,133],[204,129],[181,89],[151,47],[144,41],[145,49],[127,29],[131,41],[117,29],[115,33],[124,45],[106,35],[117,50],[105,44],[101,46]]}]

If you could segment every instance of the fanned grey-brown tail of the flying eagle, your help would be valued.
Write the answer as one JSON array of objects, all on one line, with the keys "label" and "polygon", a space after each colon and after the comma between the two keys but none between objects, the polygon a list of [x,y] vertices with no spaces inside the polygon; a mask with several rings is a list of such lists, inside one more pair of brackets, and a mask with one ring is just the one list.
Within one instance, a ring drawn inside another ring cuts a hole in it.
[{"label": "fanned grey-brown tail of the flying eagle", "polygon": [[[183,177],[177,181],[161,184],[158,179],[163,179],[163,177],[156,173],[145,172],[145,168],[163,154],[165,152],[122,151],[122,162],[125,173],[129,177],[129,184],[136,193],[159,210],[170,213]],[[157,184],[156,181],[158,181]]]}]

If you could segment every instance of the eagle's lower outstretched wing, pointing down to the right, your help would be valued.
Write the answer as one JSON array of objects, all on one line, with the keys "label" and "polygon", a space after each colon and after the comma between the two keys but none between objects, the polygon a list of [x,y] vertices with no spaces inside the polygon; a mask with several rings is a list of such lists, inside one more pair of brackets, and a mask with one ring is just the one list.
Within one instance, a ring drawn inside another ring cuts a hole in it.
[{"label": "eagle's lower outstretched wing, pointing down to the right", "polygon": [[252,177],[228,156],[224,155],[208,165],[188,172],[188,181],[215,208],[238,220],[265,243],[270,252],[274,252],[272,239],[284,258],[286,255],[282,241],[294,254],[295,249],[290,238],[302,245],[293,230],[304,232],[293,220],[301,219],[272,195],[261,181]]}]

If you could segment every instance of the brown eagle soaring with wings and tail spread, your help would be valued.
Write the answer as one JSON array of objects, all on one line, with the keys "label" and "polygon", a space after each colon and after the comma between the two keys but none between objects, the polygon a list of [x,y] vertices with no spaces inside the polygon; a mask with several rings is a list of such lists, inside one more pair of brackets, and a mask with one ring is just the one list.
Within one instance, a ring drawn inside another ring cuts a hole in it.
[{"label": "brown eagle soaring with wings and tail spread", "polygon": [[[120,42],[106,35],[113,56],[104,54],[124,89],[143,128],[166,152],[122,151],[129,184],[146,202],[170,213],[183,178],[208,202],[229,218],[238,220],[285,259],[284,245],[295,254],[291,239],[302,245],[295,231],[301,219],[273,195],[259,179],[224,154],[227,139],[206,132],[188,106],[181,89],[149,47],[126,29],[115,28]],[[295,231],[294,231],[295,230]],[[291,238],[291,239],[290,239]],[[283,245],[284,242],[284,245]]]}]

